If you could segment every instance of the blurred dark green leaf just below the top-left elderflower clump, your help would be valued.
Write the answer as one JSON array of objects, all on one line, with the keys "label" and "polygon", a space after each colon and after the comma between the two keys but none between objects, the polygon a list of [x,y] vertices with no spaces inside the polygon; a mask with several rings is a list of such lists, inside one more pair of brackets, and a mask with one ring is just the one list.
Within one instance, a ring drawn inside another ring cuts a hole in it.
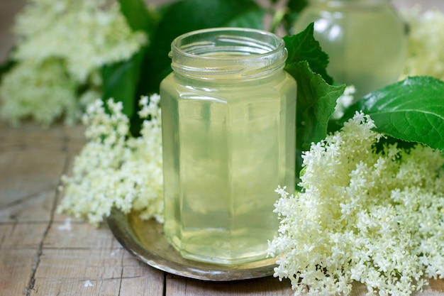
[{"label": "blurred dark green leaf just below the top-left elderflower clump", "polygon": [[113,98],[123,103],[123,114],[131,118],[138,102],[137,86],[140,80],[140,65],[145,50],[141,49],[130,60],[105,65],[101,68],[104,93],[102,99]]}]

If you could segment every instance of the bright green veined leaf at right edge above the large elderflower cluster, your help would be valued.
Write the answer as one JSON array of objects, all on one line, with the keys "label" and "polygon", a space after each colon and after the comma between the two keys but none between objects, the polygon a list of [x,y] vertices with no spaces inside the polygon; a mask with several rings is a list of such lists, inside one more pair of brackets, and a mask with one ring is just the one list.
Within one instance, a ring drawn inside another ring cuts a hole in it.
[{"label": "bright green veined leaf at right edge above the large elderflower cluster", "polygon": [[350,106],[344,117],[360,110],[370,115],[381,133],[444,150],[442,80],[418,76],[390,84]]}]

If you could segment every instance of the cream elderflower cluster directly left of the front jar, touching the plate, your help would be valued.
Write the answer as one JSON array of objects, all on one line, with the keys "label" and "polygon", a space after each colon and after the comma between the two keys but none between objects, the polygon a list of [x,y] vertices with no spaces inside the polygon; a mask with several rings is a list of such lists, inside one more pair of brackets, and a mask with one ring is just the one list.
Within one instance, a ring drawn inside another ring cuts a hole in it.
[{"label": "cream elderflower cluster directly left of the front jar, touching the plate", "polygon": [[[162,132],[160,96],[140,99],[145,118],[139,137],[129,135],[121,102],[98,100],[84,115],[87,144],[74,160],[72,176],[62,177],[65,196],[58,211],[98,224],[115,207],[162,221]],[[106,108],[110,114],[106,113]],[[148,119],[147,119],[148,118]]]}]

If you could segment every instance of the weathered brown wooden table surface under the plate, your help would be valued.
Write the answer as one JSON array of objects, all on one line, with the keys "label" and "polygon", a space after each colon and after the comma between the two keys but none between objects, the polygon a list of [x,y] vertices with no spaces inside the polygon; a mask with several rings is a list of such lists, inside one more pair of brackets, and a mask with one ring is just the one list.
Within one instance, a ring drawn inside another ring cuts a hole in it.
[{"label": "weathered brown wooden table surface under the plate", "polygon": [[[0,16],[11,16],[6,9],[19,7],[15,1],[0,0]],[[394,2],[400,1],[414,3]],[[432,2],[444,4],[423,4]],[[9,47],[7,42],[0,45]],[[70,174],[85,143],[83,131],[82,126],[43,129],[28,123],[11,128],[0,123],[1,296],[293,295],[288,281],[272,277],[211,283],[164,273],[131,256],[108,226],[96,228],[57,214],[60,176]],[[444,295],[444,280],[430,283],[416,295]],[[365,292],[355,284],[352,295]]]}]

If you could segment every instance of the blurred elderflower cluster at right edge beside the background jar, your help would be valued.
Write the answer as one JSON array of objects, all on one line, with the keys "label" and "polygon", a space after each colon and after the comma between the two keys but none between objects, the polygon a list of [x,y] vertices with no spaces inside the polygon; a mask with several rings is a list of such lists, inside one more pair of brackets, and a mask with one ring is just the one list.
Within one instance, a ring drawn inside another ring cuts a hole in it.
[{"label": "blurred elderflower cluster at right edge beside the background jar", "polygon": [[444,13],[418,7],[403,11],[409,23],[409,50],[404,76],[429,75],[444,80]]}]

